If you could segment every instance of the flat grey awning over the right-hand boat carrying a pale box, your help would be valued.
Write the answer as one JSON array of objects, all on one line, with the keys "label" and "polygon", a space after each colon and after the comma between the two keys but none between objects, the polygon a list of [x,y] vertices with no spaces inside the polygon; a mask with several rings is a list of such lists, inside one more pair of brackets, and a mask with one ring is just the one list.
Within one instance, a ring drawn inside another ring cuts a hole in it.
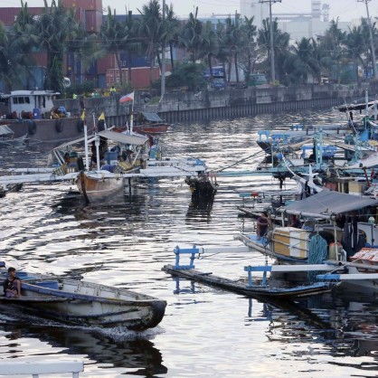
[{"label": "flat grey awning over the right-hand boat carrying a pale box", "polygon": [[314,214],[323,218],[330,218],[339,213],[352,212],[367,206],[377,206],[378,201],[352,194],[324,191],[311,195],[304,200],[289,203],[280,210],[292,214]]}]

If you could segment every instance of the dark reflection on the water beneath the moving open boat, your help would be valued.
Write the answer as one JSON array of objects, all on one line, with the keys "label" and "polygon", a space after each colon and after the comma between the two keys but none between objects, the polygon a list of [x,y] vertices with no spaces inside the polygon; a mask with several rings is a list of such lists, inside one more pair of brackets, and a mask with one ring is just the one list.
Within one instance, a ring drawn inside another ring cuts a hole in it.
[{"label": "dark reflection on the water beneath the moving open boat", "polygon": [[[3,312],[3,311],[2,311]],[[5,310],[6,312],[6,310]],[[156,376],[157,374],[167,373],[167,368],[163,364],[162,354],[156,349],[154,343],[147,338],[153,338],[154,331],[147,331],[144,338],[136,334],[122,334],[112,335],[111,333],[105,334],[95,329],[84,329],[80,327],[63,327],[56,324],[46,324],[43,320],[28,317],[28,321],[24,322],[22,318],[24,315],[17,316],[12,322],[7,325],[0,326],[0,333],[6,333],[4,338],[9,341],[12,340],[12,345],[17,345],[17,340],[27,338],[29,344],[33,345],[38,342],[43,343],[45,352],[42,352],[37,347],[29,351],[28,357],[39,358],[38,356],[43,353],[43,358],[53,357],[57,359],[54,349],[59,350],[59,355],[80,355],[86,364],[84,371],[89,372],[88,360],[94,360],[96,364],[107,364],[107,370],[110,374],[114,374],[112,368],[117,368],[117,373],[128,373],[141,376]],[[33,320],[33,321],[31,321]],[[11,323],[11,324],[10,324]],[[28,326],[25,326],[28,324]],[[157,331],[158,332],[158,331]],[[6,342],[3,339],[2,345]],[[46,353],[46,345],[51,345],[50,354]],[[10,347],[9,343],[8,346]],[[64,350],[61,350],[61,348]],[[14,348],[13,348],[14,349]],[[17,349],[17,348],[16,348]],[[11,350],[10,350],[11,352]],[[24,357],[24,354],[17,355],[15,351],[13,354],[4,353],[3,358]],[[33,357],[33,354],[34,357]],[[55,357],[54,355],[55,354]],[[76,358],[76,357],[75,357]],[[87,360],[88,359],[88,360]],[[87,360],[87,361],[86,361]],[[93,361],[91,361],[93,364]],[[119,370],[122,369],[122,370]]]}]

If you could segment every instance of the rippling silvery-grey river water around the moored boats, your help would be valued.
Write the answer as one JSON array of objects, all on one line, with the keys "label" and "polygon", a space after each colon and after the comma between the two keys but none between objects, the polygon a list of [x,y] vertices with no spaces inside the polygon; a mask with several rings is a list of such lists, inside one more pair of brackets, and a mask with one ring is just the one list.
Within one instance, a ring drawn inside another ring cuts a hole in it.
[{"label": "rippling silvery-grey river water around the moored boats", "polygon": [[[165,156],[194,156],[219,168],[252,169],[260,128],[329,123],[333,112],[175,125],[160,138]],[[1,169],[43,166],[31,148],[0,150]],[[142,334],[64,326],[0,307],[0,359],[85,363],[83,377],[346,377],[378,374],[378,299],[323,295],[261,301],[173,279],[161,268],[174,247],[239,245],[238,192],[275,188],[271,177],[218,178],[213,204],[196,207],[183,179],[136,183],[122,200],[85,205],[72,184],[27,184],[0,200],[0,250],[7,266],[134,289],[168,303],[162,323]],[[287,183],[289,187],[290,184]],[[73,188],[74,189],[74,188]],[[204,255],[203,271],[240,278],[258,253]],[[0,360],[1,366],[1,360]],[[1,367],[0,367],[1,368]],[[1,373],[1,372],[0,372]]]}]

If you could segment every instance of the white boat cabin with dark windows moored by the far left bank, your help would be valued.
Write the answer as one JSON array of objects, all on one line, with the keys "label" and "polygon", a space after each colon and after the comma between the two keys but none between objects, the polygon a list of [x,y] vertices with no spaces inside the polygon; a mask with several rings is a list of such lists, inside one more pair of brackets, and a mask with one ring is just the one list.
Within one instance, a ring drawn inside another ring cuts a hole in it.
[{"label": "white boat cabin with dark windows moored by the far left bank", "polygon": [[50,118],[46,113],[52,111],[53,99],[59,92],[52,90],[13,90],[0,95],[0,112],[4,118]]}]

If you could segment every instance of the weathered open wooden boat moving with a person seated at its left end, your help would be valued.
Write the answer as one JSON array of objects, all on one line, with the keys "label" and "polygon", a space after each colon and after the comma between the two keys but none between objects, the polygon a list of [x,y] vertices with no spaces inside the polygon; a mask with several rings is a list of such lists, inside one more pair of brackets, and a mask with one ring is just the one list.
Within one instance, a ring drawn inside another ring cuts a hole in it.
[{"label": "weathered open wooden boat moving with a person seated at its left end", "polygon": [[166,307],[165,300],[126,288],[51,277],[23,279],[21,295],[1,301],[80,326],[126,326],[137,331],[157,326]]}]

